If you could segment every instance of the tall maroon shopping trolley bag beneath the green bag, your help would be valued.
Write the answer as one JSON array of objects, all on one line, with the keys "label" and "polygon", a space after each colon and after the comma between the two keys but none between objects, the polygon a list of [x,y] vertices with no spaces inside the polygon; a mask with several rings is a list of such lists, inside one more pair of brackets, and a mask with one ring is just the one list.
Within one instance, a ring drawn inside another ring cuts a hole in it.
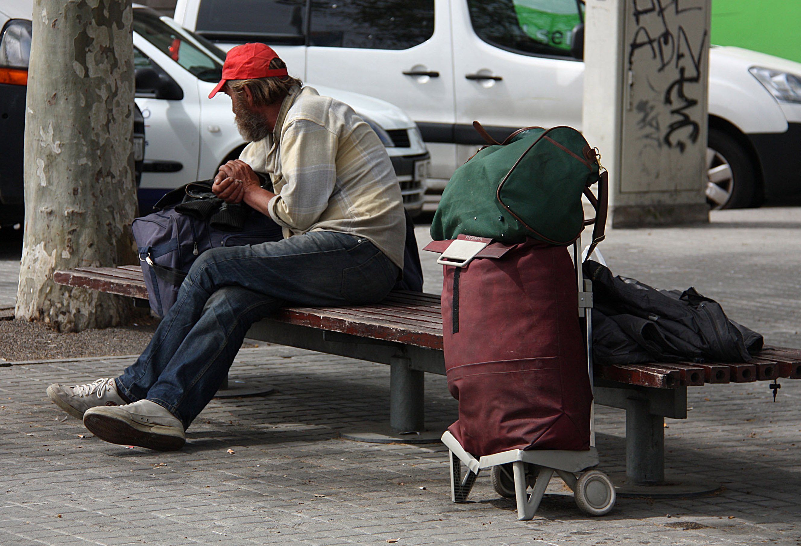
[{"label": "tall maroon shopping trolley bag beneath the green bag", "polygon": [[[469,235],[459,235],[456,246],[470,240],[489,244],[463,267],[444,266],[445,369],[459,400],[449,431],[476,457],[589,449],[592,392],[567,248]],[[451,243],[434,241],[426,250],[443,253],[441,263],[464,262],[448,257]]]}]

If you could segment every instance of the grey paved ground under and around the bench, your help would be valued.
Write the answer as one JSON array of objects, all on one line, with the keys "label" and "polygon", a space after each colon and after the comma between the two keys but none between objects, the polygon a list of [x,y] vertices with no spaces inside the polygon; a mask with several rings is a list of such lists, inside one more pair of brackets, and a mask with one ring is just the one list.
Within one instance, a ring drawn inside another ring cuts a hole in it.
[{"label": "grey paved ground under and around the bench", "polygon": [[[801,209],[725,211],[709,226],[610,231],[602,249],[618,274],[693,285],[769,343],[801,347],[799,235]],[[425,271],[426,291],[438,291],[433,259]],[[666,420],[666,467],[720,484],[713,496],[618,499],[608,516],[588,518],[553,480],[535,519],[517,522],[513,500],[485,475],[471,502],[450,501],[441,444],[338,437],[388,421],[389,370],[380,364],[244,349],[232,375],[268,379],[276,392],[215,399],[173,453],[106,444],[46,398],[49,383],[113,376],[132,358],[0,367],[0,546],[801,546],[801,381],[782,380],[776,403],[766,382],[689,388],[689,418]],[[445,378],[426,382],[429,423],[454,420]],[[619,478],[624,412],[598,407],[596,429],[600,466]]]}]

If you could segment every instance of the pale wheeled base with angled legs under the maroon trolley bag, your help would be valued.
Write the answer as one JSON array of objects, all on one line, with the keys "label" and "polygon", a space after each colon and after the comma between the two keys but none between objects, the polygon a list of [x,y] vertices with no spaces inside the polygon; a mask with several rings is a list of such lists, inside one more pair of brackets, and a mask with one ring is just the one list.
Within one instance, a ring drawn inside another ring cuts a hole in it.
[{"label": "pale wheeled base with angled legs under the maroon trolley bag", "polygon": [[[513,449],[476,459],[465,452],[449,431],[442,435],[442,442],[450,450],[451,500],[455,503],[467,500],[481,469],[512,464],[518,520],[533,518],[554,472],[573,489],[576,504],[582,512],[603,516],[614,506],[612,482],[606,474],[593,468],[598,464],[598,450],[595,448],[586,452]],[[461,475],[462,463],[467,467],[465,476]],[[527,465],[530,466],[526,468]],[[530,483],[532,477],[533,483]],[[532,486],[530,493],[529,484]]]}]

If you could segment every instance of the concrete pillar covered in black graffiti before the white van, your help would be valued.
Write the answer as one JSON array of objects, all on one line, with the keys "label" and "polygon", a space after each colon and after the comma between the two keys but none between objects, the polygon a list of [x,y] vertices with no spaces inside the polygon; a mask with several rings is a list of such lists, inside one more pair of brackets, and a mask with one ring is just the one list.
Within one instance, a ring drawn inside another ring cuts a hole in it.
[{"label": "concrete pillar covered in black graffiti before the white van", "polygon": [[583,132],[613,227],[707,222],[711,0],[586,0]]}]

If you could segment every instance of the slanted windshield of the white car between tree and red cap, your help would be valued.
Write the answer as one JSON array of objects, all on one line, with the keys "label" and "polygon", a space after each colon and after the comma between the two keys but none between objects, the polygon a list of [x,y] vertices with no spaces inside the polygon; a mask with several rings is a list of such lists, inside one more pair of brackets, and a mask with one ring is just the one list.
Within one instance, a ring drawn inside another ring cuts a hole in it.
[{"label": "slanted windshield of the white car between tree and red cap", "polygon": [[168,25],[159,14],[134,10],[134,31],[203,82],[219,82],[223,77],[220,59],[196,46],[189,36]]}]

